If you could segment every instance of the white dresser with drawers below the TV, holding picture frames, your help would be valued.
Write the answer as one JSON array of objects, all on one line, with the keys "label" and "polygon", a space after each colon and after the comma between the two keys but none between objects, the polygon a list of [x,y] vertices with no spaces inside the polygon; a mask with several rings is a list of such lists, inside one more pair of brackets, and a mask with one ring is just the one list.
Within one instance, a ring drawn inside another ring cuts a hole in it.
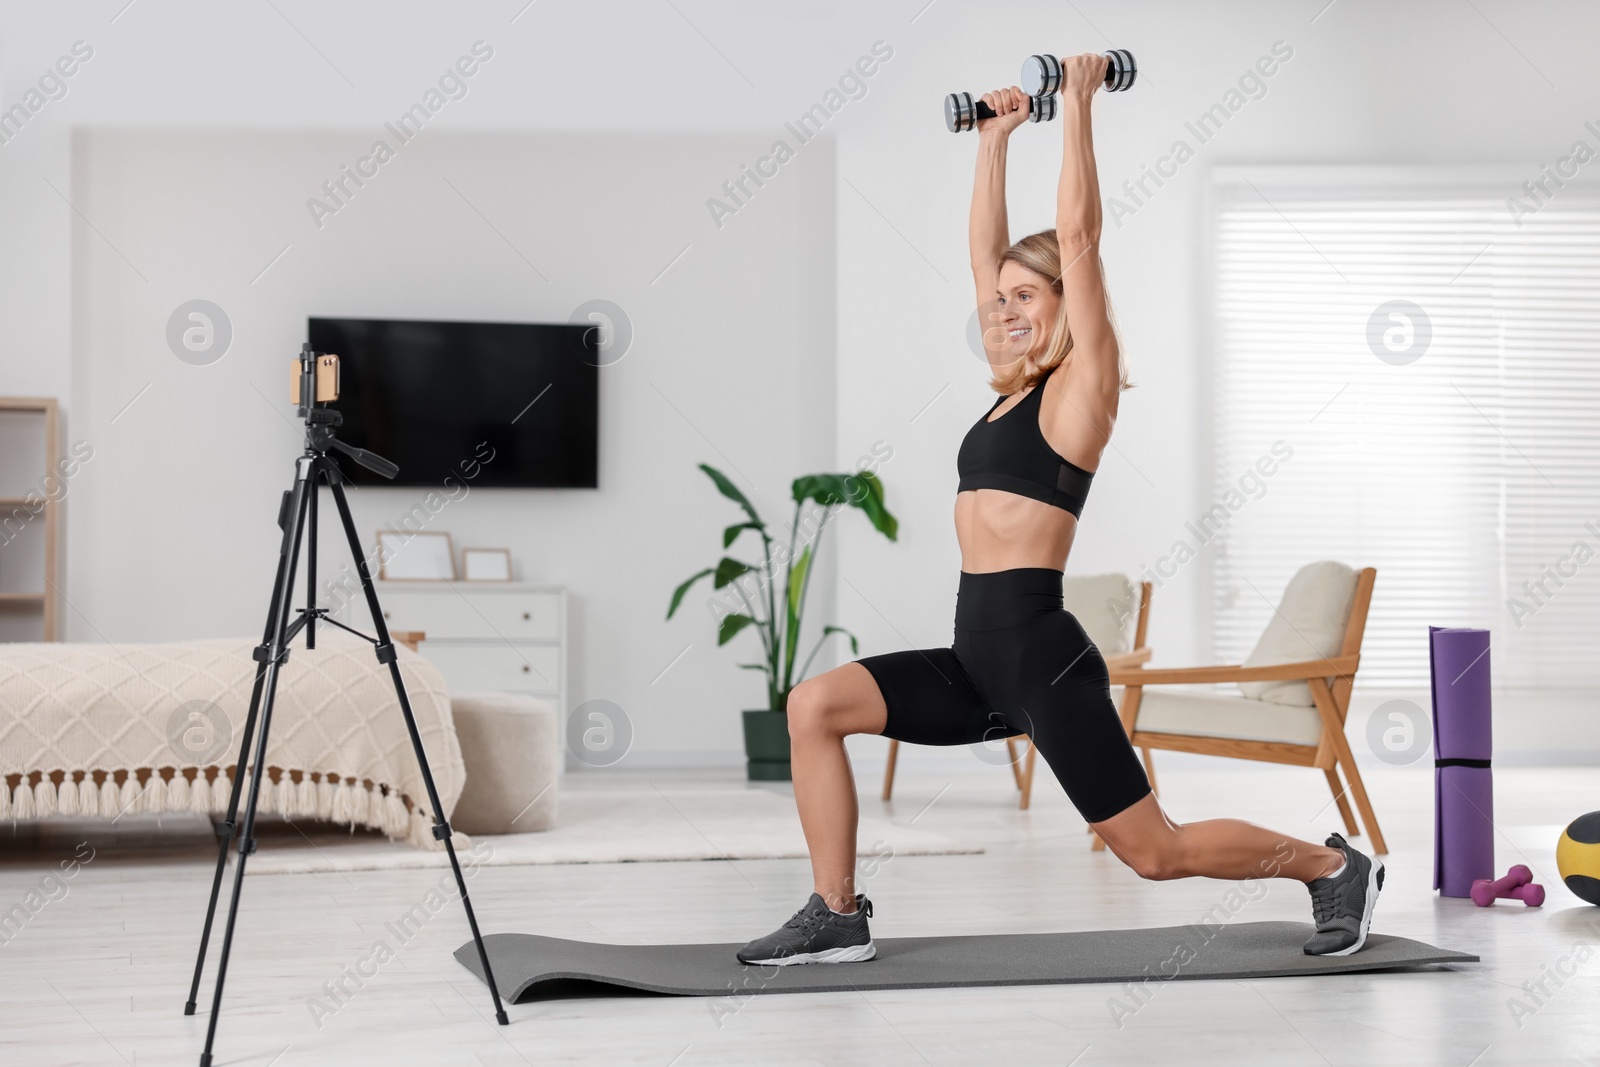
[{"label": "white dresser with drawers below the TV, holding picture frames", "polygon": [[[526,693],[566,715],[566,590],[528,582],[374,582],[390,630],[422,630],[421,651],[451,693]],[[349,613],[352,617],[344,619]],[[354,621],[352,621],[354,619]],[[366,621],[357,597],[341,622]]]}]

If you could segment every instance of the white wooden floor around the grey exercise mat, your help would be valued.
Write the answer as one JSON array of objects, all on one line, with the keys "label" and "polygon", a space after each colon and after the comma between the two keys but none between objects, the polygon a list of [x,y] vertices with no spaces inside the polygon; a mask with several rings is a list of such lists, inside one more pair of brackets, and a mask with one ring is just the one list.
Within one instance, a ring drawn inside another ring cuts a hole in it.
[{"label": "white wooden floor around the grey exercise mat", "polygon": [[[670,795],[731,781],[725,771],[618,771],[568,776],[565,785]],[[574,997],[514,1005],[512,1025],[496,1027],[483,985],[450,955],[466,939],[458,907],[405,942],[386,926],[426,901],[438,872],[261,875],[246,880],[216,1062],[1600,1064],[1600,909],[1566,893],[1554,864],[1560,827],[1600,808],[1600,771],[1496,771],[1496,862],[1534,869],[1550,893],[1538,910],[1438,899],[1429,888],[1429,769],[1376,768],[1368,782],[1394,849],[1374,928],[1477,952],[1482,965],[1170,982],[1144,998],[1110,985],[744,1001]],[[1314,771],[1174,769],[1162,784],[1178,819],[1238,814],[1315,838],[1338,829]],[[861,792],[864,808],[880,809],[875,781],[864,776]],[[989,851],[864,861],[880,937],[1179,925],[1229,889],[1202,880],[1141,883],[1112,856],[1090,853],[1054,782],[1038,789],[1032,811],[1018,811],[1003,768],[918,773],[910,755],[883,811],[915,819],[920,830],[978,837]],[[90,835],[93,859],[54,883],[46,872],[74,856],[83,833],[26,825],[5,833],[0,910],[34,891],[34,904],[48,902],[0,944],[0,1062],[197,1062],[205,1006],[195,1017],[181,1006],[208,889],[202,843],[150,824],[99,830]],[[490,867],[472,880],[485,931],[619,942],[746,941],[787,918],[808,891],[803,861]],[[1277,918],[1309,920],[1299,885],[1274,883],[1237,915]],[[370,960],[379,941],[394,958],[360,989],[347,981],[354,992],[334,1011],[326,1000],[314,1011],[325,984]]]}]

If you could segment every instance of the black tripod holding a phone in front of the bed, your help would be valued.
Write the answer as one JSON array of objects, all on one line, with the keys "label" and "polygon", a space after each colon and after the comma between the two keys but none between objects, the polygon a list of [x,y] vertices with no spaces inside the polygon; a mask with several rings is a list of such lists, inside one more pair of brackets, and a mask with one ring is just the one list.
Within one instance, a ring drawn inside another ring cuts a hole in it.
[{"label": "black tripod holding a phone in front of the bed", "polygon": [[[310,352],[310,346],[304,346],[301,349],[299,397],[306,400],[301,403],[299,414],[306,419],[306,453],[294,462],[294,488],[283,493],[283,499],[278,506],[278,528],[283,531],[283,541],[278,547],[278,571],[272,584],[272,606],[267,613],[267,625],[261,637],[261,645],[258,645],[253,651],[253,659],[259,664],[256,667],[256,683],[250,694],[250,713],[245,717],[245,736],[238,747],[238,766],[235,768],[234,789],[227,800],[227,817],[216,827],[219,840],[216,853],[216,877],[211,880],[211,904],[205,912],[205,926],[200,931],[200,953],[195,960],[194,984],[189,987],[189,1001],[184,1005],[184,1014],[192,1016],[195,1013],[195,998],[200,993],[200,971],[205,968],[206,945],[211,941],[211,921],[216,918],[218,894],[222,889],[222,872],[227,865],[227,846],[229,841],[237,837],[238,859],[234,867],[234,891],[227,902],[227,925],[222,931],[222,952],[218,957],[216,965],[216,992],[211,997],[211,1019],[206,1025],[205,1051],[200,1054],[200,1067],[211,1067],[211,1045],[216,1040],[216,1021],[222,1009],[222,982],[227,977],[227,957],[234,945],[234,923],[238,918],[238,896],[245,886],[245,859],[256,851],[256,801],[261,797],[261,777],[267,773],[267,733],[272,728],[272,702],[277,696],[278,669],[285,661],[288,661],[290,641],[293,641],[302,629],[306,630],[306,648],[312,649],[317,646],[317,619],[323,619],[331,625],[338,625],[342,630],[349,630],[350,633],[371,641],[374,645],[374,651],[378,653],[378,662],[387,664],[389,667],[389,677],[394,680],[395,696],[400,699],[400,712],[405,715],[405,725],[411,734],[411,747],[416,750],[416,761],[422,769],[422,782],[427,785],[427,801],[434,814],[434,838],[443,841],[445,851],[450,854],[450,867],[456,873],[456,888],[461,889],[461,905],[467,912],[467,926],[472,928],[472,941],[478,947],[478,961],[483,965],[490,997],[494,1001],[494,1019],[501,1025],[509,1024],[506,1009],[501,1006],[499,989],[494,985],[494,973],[490,969],[488,952],[483,949],[483,936],[478,933],[478,920],[472,913],[472,901],[467,899],[467,883],[461,875],[461,862],[456,859],[454,845],[450,841],[450,822],[445,821],[443,809],[438,803],[438,790],[434,787],[434,773],[429,769],[427,753],[422,750],[422,736],[416,729],[416,717],[411,713],[411,701],[406,697],[405,683],[400,678],[395,646],[389,640],[389,627],[384,624],[382,608],[378,606],[378,592],[373,589],[373,577],[366,566],[366,558],[362,555],[362,544],[355,534],[355,523],[350,518],[350,506],[344,499],[344,474],[339,470],[333,456],[328,454],[328,450],[338,450],[368,470],[373,470],[386,478],[395,477],[400,469],[382,456],[376,456],[363,448],[346,445],[334,437],[334,429],[338,429],[342,422],[342,416],[331,408],[315,406],[315,402],[312,400],[312,360],[314,354]],[[344,625],[338,619],[330,617],[328,608],[317,606],[318,480],[325,480],[328,488],[333,491],[333,502],[338,506],[339,522],[344,526],[344,536],[350,542],[350,555],[355,558],[355,568],[362,579],[362,590],[366,593],[366,606],[373,614],[373,629],[378,630],[376,638]],[[294,569],[299,560],[301,536],[307,531],[307,526],[310,537],[309,550],[306,553],[306,606],[299,609],[298,617],[291,622],[290,601],[294,595]],[[256,729],[258,710],[261,717],[259,731]],[[251,744],[254,744],[254,760],[253,763],[246,763]],[[245,803],[245,822],[243,827],[240,827],[238,800],[245,784],[246,766],[253,766],[254,773],[250,776],[250,797]]]}]

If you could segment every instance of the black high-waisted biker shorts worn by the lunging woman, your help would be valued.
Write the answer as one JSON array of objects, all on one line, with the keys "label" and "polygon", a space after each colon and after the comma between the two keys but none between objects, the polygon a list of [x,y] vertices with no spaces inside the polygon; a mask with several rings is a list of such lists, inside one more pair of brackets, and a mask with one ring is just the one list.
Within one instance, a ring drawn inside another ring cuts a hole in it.
[{"label": "black high-waisted biker shorts worn by the lunging woman", "polygon": [[1150,792],[1106,659],[1061,605],[1061,571],[962,571],[950,648],[856,662],[883,694],[885,737],[963,745],[1027,734],[1086,822]]}]

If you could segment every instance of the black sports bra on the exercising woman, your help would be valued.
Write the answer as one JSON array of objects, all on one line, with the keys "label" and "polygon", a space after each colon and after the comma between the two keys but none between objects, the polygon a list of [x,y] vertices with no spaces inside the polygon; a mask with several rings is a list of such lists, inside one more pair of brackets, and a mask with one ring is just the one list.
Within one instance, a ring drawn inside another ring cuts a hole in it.
[{"label": "black sports bra on the exercising woman", "polygon": [[955,456],[955,470],[962,477],[957,493],[1003,490],[1053,504],[1074,517],[1083,514],[1083,501],[1090,494],[1094,472],[1067,462],[1045,440],[1043,430],[1038,429],[1038,405],[1043,394],[1045,382],[1040,381],[1034,392],[990,422],[989,416],[1006,400],[1000,397],[984,418],[966,430],[962,451]]}]

